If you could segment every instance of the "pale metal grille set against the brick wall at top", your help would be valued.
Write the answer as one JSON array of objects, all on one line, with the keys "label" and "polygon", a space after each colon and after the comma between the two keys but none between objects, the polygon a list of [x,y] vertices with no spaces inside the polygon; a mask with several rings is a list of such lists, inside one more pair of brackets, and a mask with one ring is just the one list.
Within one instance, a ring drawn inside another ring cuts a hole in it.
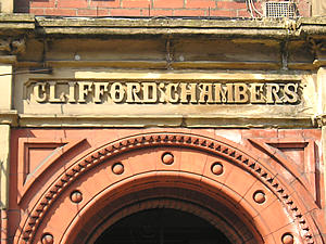
[{"label": "pale metal grille set against the brick wall at top", "polygon": [[293,2],[265,2],[265,13],[267,17],[289,17],[296,16],[296,5]]}]

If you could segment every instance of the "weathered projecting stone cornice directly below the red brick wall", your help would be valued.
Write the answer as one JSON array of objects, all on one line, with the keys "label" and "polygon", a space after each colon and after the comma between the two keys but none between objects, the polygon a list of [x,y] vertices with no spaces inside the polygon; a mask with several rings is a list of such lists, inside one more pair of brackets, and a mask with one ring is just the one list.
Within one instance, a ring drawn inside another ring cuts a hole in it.
[{"label": "weathered projecting stone cornice directly below the red brick wall", "polygon": [[323,38],[326,17],[281,20],[220,20],[178,17],[51,17],[0,14],[0,36],[36,35],[213,35],[283,39],[304,36]]}]

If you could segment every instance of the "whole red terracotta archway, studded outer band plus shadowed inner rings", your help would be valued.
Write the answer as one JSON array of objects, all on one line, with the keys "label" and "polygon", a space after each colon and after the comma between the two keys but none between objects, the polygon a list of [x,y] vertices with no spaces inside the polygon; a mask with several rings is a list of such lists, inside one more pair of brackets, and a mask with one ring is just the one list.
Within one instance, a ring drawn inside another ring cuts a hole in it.
[{"label": "whole red terracotta archway, studded outer band plus shadowed inner rings", "polygon": [[155,208],[198,216],[233,244],[313,240],[289,185],[222,138],[139,134],[66,167],[22,220],[15,243],[93,243],[123,218]]}]

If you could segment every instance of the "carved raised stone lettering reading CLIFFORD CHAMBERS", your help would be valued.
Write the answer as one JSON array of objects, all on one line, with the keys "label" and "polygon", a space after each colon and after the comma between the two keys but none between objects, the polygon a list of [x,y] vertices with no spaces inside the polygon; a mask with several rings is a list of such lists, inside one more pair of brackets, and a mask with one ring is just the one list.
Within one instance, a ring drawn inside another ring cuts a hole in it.
[{"label": "carved raised stone lettering reading CLIFFORD CHAMBERS", "polygon": [[298,82],[37,80],[28,86],[37,103],[300,103]]}]

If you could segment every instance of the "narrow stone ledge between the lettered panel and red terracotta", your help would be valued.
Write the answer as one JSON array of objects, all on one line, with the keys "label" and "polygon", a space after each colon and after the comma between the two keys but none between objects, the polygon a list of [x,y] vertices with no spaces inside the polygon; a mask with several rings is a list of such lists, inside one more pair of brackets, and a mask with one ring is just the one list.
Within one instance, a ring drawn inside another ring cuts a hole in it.
[{"label": "narrow stone ledge between the lettered panel and red terracotta", "polygon": [[312,117],[20,115],[18,127],[312,128]]}]

